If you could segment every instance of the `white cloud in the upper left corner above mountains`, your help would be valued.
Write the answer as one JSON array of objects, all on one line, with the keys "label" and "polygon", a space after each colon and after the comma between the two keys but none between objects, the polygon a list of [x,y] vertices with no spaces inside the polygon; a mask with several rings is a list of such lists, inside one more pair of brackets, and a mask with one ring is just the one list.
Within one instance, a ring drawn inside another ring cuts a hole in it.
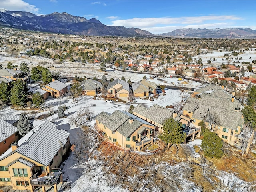
[{"label": "white cloud in the upper left corner above mountains", "polygon": [[30,5],[23,0],[1,0],[1,8],[5,8],[10,11],[28,11],[34,14],[38,14],[39,8],[34,5]]}]

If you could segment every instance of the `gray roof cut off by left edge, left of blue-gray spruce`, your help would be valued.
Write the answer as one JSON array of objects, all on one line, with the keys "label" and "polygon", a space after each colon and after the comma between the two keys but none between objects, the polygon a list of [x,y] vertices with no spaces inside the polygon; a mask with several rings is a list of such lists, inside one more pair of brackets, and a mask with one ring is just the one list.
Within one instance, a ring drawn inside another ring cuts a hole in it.
[{"label": "gray roof cut off by left edge, left of blue-gray spruce", "polygon": [[18,132],[17,127],[0,119],[0,142],[6,140],[12,134]]}]

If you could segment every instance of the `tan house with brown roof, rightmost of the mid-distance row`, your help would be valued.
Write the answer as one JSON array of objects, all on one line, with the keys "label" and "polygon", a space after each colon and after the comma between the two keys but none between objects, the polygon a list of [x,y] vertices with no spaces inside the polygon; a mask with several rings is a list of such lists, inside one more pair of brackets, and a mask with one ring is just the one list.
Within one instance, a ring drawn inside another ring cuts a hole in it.
[{"label": "tan house with brown roof, rightmost of the mid-distance row", "polygon": [[132,83],[133,96],[138,98],[146,98],[150,93],[156,94],[157,88],[157,84],[145,79]]}]

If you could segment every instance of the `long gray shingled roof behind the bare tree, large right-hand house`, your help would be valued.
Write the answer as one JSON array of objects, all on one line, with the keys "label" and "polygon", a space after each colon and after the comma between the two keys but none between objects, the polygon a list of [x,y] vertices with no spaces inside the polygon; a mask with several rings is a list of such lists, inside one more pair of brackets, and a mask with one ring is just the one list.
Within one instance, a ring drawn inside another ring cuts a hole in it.
[{"label": "long gray shingled roof behind the bare tree, large right-hand house", "polygon": [[203,120],[204,116],[208,112],[214,112],[217,114],[218,118],[220,119],[220,125],[225,128],[229,128],[232,130],[236,130],[238,126],[242,126],[243,119],[241,112],[236,112],[232,110],[226,110],[212,107],[212,106],[204,106],[204,105],[198,105],[196,107],[196,110],[194,111],[194,114],[192,116],[193,119]]}]

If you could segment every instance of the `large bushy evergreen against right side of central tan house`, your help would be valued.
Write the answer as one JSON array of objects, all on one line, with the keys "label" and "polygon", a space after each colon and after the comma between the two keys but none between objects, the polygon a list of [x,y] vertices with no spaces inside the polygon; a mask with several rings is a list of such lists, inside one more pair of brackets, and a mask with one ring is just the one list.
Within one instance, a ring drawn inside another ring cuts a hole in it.
[{"label": "large bushy evergreen against right side of central tan house", "polygon": [[182,123],[169,118],[164,122],[163,133],[159,136],[168,147],[170,144],[181,144],[185,141],[186,135],[182,132]]}]

